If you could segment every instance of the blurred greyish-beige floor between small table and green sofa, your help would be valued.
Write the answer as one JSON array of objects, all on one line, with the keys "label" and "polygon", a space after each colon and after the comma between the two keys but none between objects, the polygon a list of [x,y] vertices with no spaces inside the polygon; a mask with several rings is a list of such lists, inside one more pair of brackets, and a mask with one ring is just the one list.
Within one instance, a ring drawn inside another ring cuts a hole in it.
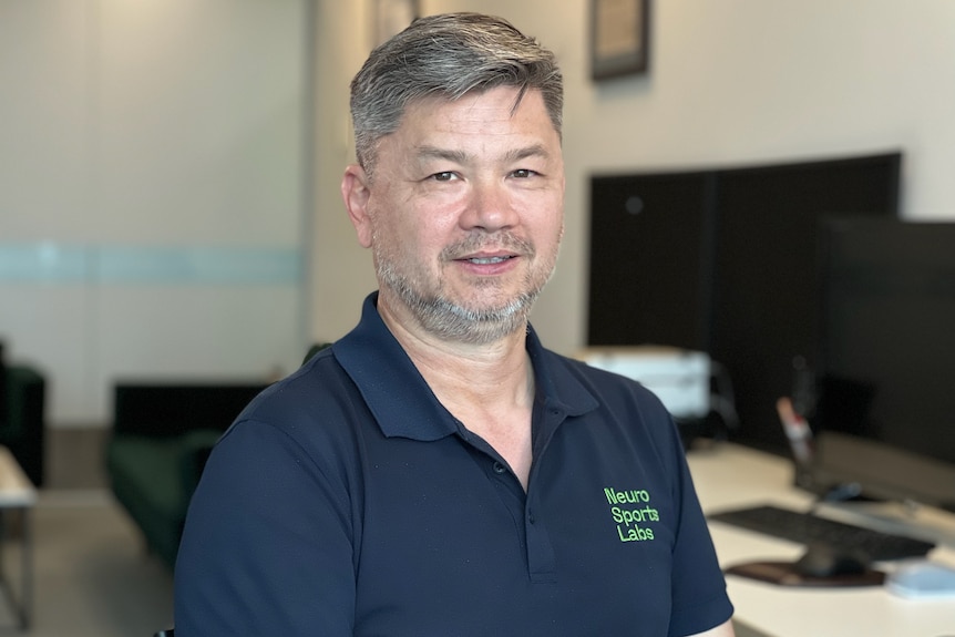
[{"label": "blurred greyish-beige floor between small table and green sofa", "polygon": [[[45,479],[31,512],[33,637],[143,637],[172,625],[172,573],[144,547],[106,489],[103,428],[50,429]],[[22,597],[22,518],[4,512],[0,559]],[[16,634],[0,597],[0,634]]]}]

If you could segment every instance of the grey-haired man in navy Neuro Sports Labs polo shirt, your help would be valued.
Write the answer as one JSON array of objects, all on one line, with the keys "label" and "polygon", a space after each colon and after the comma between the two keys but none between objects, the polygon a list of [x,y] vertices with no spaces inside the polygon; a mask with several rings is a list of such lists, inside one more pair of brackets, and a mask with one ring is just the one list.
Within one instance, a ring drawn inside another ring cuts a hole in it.
[{"label": "grey-haired man in navy Neuro Sports Labs polo shirt", "polygon": [[341,189],[379,291],[213,452],[179,637],[732,635],[666,410],[527,322],[563,233],[562,102],[553,54],[499,19],[372,52]]}]

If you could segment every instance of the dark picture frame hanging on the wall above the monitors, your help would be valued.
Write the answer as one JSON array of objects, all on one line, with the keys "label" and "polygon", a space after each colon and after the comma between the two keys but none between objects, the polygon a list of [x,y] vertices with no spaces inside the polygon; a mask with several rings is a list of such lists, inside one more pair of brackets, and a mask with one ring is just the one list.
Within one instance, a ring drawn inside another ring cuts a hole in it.
[{"label": "dark picture frame hanging on the wall above the monitors", "polygon": [[650,0],[591,0],[591,76],[646,74]]}]

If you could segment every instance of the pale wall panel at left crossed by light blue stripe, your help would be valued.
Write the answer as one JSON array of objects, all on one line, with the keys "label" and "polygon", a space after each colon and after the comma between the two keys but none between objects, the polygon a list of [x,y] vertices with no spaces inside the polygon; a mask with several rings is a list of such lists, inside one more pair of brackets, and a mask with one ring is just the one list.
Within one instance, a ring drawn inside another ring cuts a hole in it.
[{"label": "pale wall panel at left crossed by light blue stripe", "polygon": [[48,421],[306,351],[305,0],[0,3],[0,339]]}]

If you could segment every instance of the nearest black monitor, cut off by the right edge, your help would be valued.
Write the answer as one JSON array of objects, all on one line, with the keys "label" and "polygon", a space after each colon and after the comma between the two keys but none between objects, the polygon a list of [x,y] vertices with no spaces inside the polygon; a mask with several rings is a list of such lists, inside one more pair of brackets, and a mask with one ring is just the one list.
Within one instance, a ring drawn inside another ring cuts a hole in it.
[{"label": "nearest black monitor, cut off by the right edge", "polygon": [[813,483],[955,511],[955,223],[823,226]]}]

